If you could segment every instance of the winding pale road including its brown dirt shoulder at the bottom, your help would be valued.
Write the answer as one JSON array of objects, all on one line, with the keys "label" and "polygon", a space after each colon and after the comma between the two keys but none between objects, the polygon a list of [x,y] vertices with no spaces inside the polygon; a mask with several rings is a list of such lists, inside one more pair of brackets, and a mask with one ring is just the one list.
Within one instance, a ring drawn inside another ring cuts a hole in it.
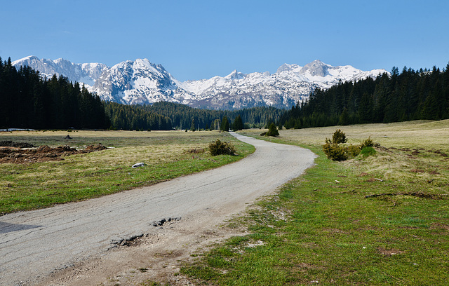
[{"label": "winding pale road including its brown dirt shoulder at the bottom", "polygon": [[[154,186],[0,217],[0,285],[107,285],[126,273],[133,285],[130,277],[157,274],[136,268],[167,269],[168,256],[229,235],[217,224],[314,163],[307,149],[232,134],[255,153]],[[154,226],[168,217],[176,219]],[[142,234],[140,246],[115,247]]]}]

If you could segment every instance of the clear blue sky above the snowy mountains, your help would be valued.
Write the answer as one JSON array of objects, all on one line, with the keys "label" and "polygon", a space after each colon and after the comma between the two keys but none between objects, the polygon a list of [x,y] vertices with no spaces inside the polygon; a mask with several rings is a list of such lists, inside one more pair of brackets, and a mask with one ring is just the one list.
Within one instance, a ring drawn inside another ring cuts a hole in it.
[{"label": "clear blue sky above the snowy mountains", "polygon": [[147,58],[180,81],[283,63],[445,68],[449,1],[0,1],[0,56]]}]

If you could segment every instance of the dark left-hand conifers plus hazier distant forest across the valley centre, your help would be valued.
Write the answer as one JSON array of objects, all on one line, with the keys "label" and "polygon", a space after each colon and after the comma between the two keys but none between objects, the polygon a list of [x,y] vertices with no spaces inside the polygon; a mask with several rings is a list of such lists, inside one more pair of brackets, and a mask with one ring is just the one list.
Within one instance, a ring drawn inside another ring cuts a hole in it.
[{"label": "dark left-hand conifers plus hazier distant forest across the valley centre", "polygon": [[46,79],[31,67],[16,69],[11,58],[3,62],[0,57],[0,128],[262,128],[267,122],[279,121],[283,112],[274,107],[227,111],[196,109],[172,102],[132,106],[102,102],[98,95],[65,76]]}]

